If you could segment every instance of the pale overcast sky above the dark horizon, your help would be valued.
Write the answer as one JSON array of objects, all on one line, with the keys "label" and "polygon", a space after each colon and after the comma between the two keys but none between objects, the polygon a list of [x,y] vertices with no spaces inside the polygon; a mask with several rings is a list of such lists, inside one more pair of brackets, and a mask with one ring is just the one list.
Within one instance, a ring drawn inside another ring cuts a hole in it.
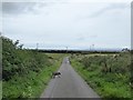
[{"label": "pale overcast sky above the dark horizon", "polygon": [[0,31],[24,48],[37,43],[39,49],[131,48],[130,0],[7,0],[1,4]]}]

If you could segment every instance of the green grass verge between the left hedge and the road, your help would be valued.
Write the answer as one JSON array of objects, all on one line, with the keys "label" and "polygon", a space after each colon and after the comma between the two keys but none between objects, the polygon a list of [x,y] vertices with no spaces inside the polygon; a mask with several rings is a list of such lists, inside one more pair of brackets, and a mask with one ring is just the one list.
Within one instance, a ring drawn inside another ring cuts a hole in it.
[{"label": "green grass verge between the left hedge and the road", "polygon": [[61,59],[51,67],[45,67],[40,73],[31,71],[22,77],[12,77],[3,81],[3,98],[39,98],[51,79],[51,72],[59,69]]}]

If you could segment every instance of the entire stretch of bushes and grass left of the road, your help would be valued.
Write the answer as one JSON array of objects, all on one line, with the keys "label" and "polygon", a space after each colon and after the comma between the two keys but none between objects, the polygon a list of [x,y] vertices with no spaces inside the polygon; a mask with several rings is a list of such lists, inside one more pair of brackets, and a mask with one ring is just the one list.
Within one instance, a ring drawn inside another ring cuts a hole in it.
[{"label": "entire stretch of bushes and grass left of the road", "polygon": [[2,37],[2,98],[39,98],[64,54],[27,50]]}]

